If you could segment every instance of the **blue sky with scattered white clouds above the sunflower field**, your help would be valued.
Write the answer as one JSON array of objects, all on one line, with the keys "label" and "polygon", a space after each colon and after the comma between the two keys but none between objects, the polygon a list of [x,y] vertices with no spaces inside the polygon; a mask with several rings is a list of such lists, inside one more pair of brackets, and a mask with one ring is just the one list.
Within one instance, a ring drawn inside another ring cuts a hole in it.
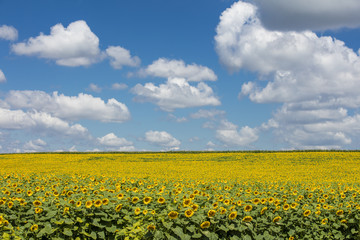
[{"label": "blue sky with scattered white clouds above the sunflower field", "polygon": [[358,149],[355,0],[0,0],[0,152]]}]

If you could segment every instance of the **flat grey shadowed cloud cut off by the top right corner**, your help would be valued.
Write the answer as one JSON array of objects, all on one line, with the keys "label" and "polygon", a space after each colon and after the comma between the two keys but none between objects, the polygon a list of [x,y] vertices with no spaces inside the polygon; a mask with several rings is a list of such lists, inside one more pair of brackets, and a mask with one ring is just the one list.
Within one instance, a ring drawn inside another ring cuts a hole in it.
[{"label": "flat grey shadowed cloud cut off by the top right corner", "polygon": [[269,29],[325,30],[360,26],[358,0],[254,0]]}]

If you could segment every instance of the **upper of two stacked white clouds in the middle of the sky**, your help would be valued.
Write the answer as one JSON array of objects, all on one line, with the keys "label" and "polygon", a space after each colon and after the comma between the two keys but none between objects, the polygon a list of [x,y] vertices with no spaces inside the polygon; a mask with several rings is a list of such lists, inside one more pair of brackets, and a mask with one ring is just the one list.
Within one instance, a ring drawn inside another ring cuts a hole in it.
[{"label": "upper of two stacked white clouds in the middle of the sky", "polygon": [[140,70],[141,76],[162,78],[185,78],[187,81],[216,81],[217,76],[208,67],[197,64],[185,64],[183,60],[159,58],[147,68]]}]

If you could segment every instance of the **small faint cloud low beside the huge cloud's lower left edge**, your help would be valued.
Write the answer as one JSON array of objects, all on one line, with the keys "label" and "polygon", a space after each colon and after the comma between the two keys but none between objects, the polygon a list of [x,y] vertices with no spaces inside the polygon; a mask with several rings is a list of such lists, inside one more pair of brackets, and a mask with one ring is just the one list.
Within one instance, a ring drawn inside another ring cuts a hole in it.
[{"label": "small faint cloud low beside the huge cloud's lower left edge", "polygon": [[237,128],[235,124],[222,120],[216,129],[216,138],[229,147],[248,146],[258,140],[257,129],[245,126],[238,131]]}]

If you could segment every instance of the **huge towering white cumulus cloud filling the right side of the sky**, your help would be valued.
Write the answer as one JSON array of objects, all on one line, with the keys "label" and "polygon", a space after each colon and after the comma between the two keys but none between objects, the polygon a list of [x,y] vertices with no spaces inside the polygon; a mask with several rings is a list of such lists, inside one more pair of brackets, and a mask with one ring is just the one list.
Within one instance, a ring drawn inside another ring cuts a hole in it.
[{"label": "huge towering white cumulus cloud filling the right side of the sky", "polygon": [[268,30],[257,7],[245,2],[222,13],[215,41],[229,71],[247,69],[268,80],[265,87],[244,83],[240,96],[283,104],[258,130],[274,129],[295,148],[341,148],[356,138],[357,128],[349,126],[358,116],[348,109],[360,107],[360,57],[344,42],[310,31]]}]

